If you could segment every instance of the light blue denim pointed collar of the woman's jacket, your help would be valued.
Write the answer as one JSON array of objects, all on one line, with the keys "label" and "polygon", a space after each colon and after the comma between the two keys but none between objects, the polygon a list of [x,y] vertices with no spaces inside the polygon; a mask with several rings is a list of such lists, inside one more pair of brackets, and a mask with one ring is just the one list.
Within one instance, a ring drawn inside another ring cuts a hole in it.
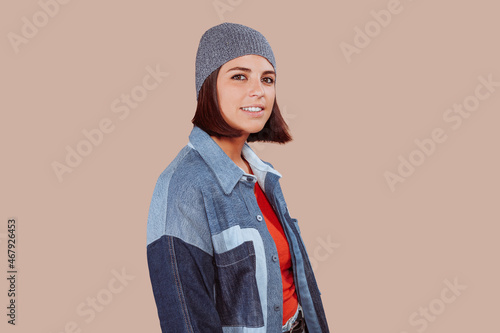
[{"label": "light blue denim pointed collar of the woman's jacket", "polygon": [[264,163],[257,154],[255,154],[252,148],[250,148],[247,142],[243,145],[241,153],[250,164],[255,176],[244,172],[243,169],[237,166],[210,135],[196,125],[193,126],[189,134],[188,145],[198,151],[200,156],[215,174],[220,186],[226,194],[230,194],[233,191],[242,177],[246,179],[248,179],[248,177],[256,177],[262,189],[265,188],[265,179],[268,172],[281,178],[281,174],[270,165]]}]

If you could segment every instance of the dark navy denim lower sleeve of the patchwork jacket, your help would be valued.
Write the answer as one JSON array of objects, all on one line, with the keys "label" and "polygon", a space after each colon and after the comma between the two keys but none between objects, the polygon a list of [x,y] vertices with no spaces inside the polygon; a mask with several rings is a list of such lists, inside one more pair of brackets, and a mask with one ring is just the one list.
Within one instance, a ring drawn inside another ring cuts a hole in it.
[{"label": "dark navy denim lower sleeve of the patchwork jacket", "polygon": [[147,247],[149,274],[162,332],[219,332],[213,304],[213,258],[172,236]]}]

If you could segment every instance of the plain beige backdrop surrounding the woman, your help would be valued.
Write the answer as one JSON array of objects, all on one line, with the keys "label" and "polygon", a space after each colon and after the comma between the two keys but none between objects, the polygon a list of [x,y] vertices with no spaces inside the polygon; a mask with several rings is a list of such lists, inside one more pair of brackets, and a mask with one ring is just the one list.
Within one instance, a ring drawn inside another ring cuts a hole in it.
[{"label": "plain beige backdrop surrounding the woman", "polygon": [[[376,29],[371,11],[388,7],[399,12],[349,62],[341,44]],[[199,39],[223,21],[273,47],[294,141],[253,147],[283,174],[332,331],[500,330],[500,87],[480,88],[488,97],[459,128],[443,119],[474,101],[478,77],[500,82],[496,2],[71,1],[46,22],[42,10],[0,9],[0,268],[15,217],[19,270],[16,327],[1,279],[2,332],[160,332],[149,203],[192,127]],[[23,17],[45,25],[15,47]],[[148,66],[168,76],[120,119],[112,103],[139,91]],[[59,181],[52,163],[103,119],[113,131]],[[414,140],[435,128],[446,141],[391,191],[384,173],[398,172],[400,155],[417,158]],[[114,278],[122,270],[126,285]],[[92,298],[105,303],[93,317]]]}]

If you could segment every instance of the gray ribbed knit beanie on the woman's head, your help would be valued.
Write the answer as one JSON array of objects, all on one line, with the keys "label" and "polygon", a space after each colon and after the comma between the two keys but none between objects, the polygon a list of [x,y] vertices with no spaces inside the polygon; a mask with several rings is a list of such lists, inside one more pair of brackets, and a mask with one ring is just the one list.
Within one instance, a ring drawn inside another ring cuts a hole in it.
[{"label": "gray ribbed knit beanie on the woman's head", "polygon": [[224,22],[203,34],[196,53],[196,100],[201,86],[214,70],[229,60],[247,54],[257,54],[266,58],[274,67],[273,50],[267,39],[250,27]]}]

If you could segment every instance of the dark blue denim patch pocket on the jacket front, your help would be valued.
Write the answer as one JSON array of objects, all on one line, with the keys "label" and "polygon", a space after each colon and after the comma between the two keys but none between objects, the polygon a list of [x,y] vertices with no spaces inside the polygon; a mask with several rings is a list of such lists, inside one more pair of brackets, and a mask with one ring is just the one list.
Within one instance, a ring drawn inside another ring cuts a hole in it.
[{"label": "dark blue denim patch pocket on the jacket front", "polygon": [[224,326],[262,327],[264,317],[255,279],[255,250],[247,241],[214,253],[216,308]]}]

